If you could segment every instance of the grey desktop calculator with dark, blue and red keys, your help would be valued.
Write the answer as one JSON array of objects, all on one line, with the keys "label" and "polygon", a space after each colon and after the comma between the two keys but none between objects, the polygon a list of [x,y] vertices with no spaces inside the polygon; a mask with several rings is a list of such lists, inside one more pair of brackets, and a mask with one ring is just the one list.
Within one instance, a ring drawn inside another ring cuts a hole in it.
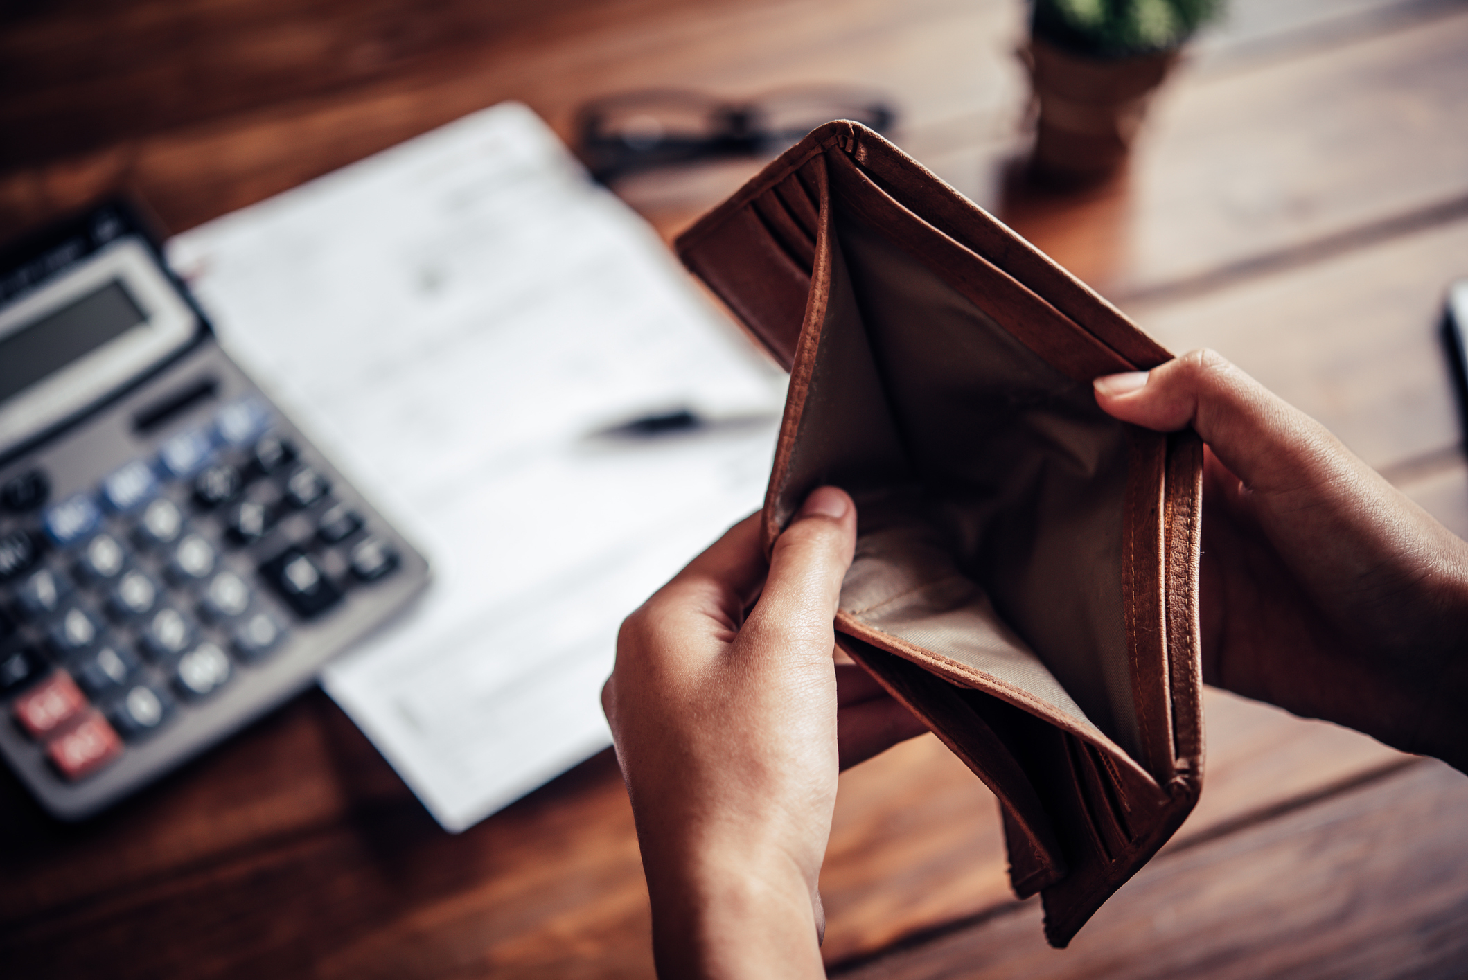
[{"label": "grey desktop calculator with dark, blue and red keys", "polygon": [[427,581],[219,346],[137,208],[0,254],[0,753],[48,811],[204,751]]}]

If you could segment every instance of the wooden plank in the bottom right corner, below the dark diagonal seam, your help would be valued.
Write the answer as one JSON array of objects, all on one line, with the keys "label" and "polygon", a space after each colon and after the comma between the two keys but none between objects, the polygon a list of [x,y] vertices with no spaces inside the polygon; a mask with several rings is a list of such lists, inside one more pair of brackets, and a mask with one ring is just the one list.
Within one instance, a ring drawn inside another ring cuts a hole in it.
[{"label": "wooden plank in the bottom right corner, below the dark diagonal seam", "polygon": [[1033,899],[844,977],[1462,977],[1468,780],[1436,761],[1158,855],[1064,951]]}]

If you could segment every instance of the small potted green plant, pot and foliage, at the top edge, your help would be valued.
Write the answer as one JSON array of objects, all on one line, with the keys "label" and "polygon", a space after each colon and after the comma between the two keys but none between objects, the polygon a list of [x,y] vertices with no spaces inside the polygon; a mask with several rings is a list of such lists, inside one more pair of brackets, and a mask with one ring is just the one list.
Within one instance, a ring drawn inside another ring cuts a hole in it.
[{"label": "small potted green plant, pot and foliage, at the top edge", "polygon": [[1032,0],[1029,66],[1039,119],[1032,172],[1091,183],[1124,160],[1147,103],[1221,0]]}]

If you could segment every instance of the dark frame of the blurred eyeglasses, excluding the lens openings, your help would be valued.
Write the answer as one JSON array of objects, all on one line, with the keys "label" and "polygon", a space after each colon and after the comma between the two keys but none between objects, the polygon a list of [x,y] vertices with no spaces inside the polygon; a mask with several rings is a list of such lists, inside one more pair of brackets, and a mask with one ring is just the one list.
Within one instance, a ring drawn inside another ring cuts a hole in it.
[{"label": "dark frame of the blurred eyeglasses, excluding the lens openings", "polygon": [[[747,101],[721,100],[687,89],[643,89],[596,98],[577,110],[577,151],[592,176],[602,183],[653,167],[730,157],[774,156],[799,142],[821,119],[803,128],[769,125],[769,106],[781,100],[806,98],[831,106],[831,119],[851,119],[876,132],[887,132],[897,122],[897,110],[882,97],[851,88],[788,88],[766,92]],[[708,135],[681,136],[659,134],[647,139],[628,139],[609,126],[618,114],[646,107],[693,110],[705,120]]]}]

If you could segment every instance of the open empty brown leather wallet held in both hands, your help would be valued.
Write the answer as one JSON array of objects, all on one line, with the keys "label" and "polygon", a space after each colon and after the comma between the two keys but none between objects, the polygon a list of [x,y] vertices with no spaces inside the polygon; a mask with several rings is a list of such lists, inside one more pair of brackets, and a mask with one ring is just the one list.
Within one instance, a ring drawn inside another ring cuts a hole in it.
[{"label": "open empty brown leather wallet held in both hands", "polygon": [[1171,355],[851,122],[677,249],[791,373],[766,547],[812,489],[853,494],[838,643],[998,797],[1064,946],[1202,786],[1202,446],[1091,390]]}]

